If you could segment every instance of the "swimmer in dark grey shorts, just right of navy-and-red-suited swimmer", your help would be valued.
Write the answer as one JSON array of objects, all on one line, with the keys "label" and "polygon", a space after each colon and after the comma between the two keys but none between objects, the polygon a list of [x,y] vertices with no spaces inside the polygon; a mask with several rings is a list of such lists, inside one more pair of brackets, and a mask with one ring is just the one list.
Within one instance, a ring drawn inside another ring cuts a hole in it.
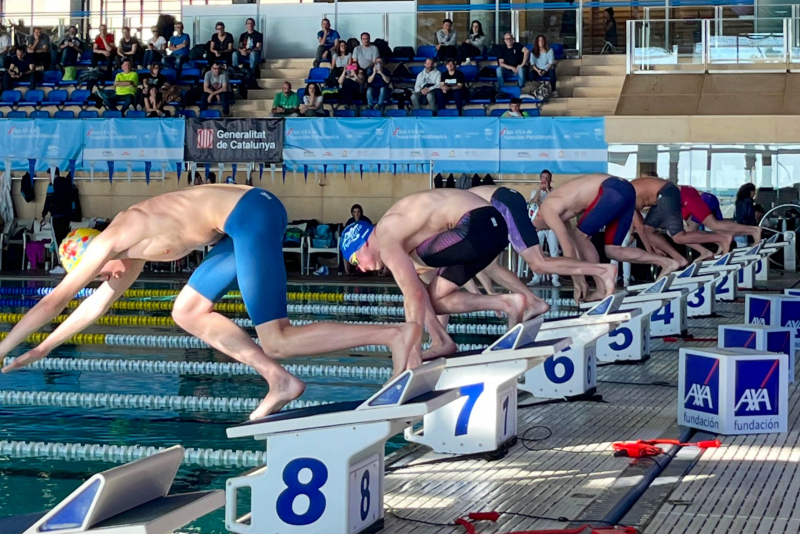
[{"label": "swimmer in dark grey shorts, just right of navy-and-red-suited swimmer", "polygon": [[[695,261],[703,261],[714,257],[714,254],[703,246],[712,243],[724,254],[730,251],[731,236],[712,232],[687,231],[683,225],[681,209],[681,192],[678,186],[654,177],[637,178],[631,182],[636,190],[636,213],[633,226],[642,238],[645,249],[656,254],[667,254],[681,264],[688,264],[683,257],[659,232],[666,232],[675,243],[686,245],[699,253]],[[647,209],[646,217],[641,210]]]}]

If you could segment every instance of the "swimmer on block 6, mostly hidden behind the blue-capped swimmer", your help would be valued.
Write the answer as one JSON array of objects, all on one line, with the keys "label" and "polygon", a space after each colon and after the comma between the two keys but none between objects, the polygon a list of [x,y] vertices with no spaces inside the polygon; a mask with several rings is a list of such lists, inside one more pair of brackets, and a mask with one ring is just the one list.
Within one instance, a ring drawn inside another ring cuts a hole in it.
[{"label": "swimmer on block 6, mostly hidden behind the blue-capped swimmer", "polygon": [[544,257],[536,228],[528,216],[528,204],[522,194],[497,185],[473,187],[469,192],[491,202],[492,206],[497,208],[508,226],[508,240],[511,246],[528,263],[533,272],[575,276],[578,278],[576,287],[583,281],[583,276],[595,276],[603,281],[603,296],[614,293],[617,279],[615,266],[587,263],[567,257]]}]

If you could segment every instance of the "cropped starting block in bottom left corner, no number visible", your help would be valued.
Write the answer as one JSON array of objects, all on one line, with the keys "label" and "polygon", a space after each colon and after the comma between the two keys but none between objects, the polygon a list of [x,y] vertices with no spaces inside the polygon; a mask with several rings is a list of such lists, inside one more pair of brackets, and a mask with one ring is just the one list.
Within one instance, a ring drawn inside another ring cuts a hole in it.
[{"label": "cropped starting block in bottom left corner, no number visible", "polygon": [[176,445],[98,473],[49,512],[0,519],[0,532],[172,534],[225,504],[221,490],[167,495],[181,462]]}]

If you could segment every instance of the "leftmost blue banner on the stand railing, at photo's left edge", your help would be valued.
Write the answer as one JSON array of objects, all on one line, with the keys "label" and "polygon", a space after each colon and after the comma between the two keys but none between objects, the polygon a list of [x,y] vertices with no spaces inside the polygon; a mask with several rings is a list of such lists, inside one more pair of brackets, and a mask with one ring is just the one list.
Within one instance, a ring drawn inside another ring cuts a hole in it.
[{"label": "leftmost blue banner on the stand railing, at photo's left edge", "polygon": [[67,169],[69,160],[80,165],[81,121],[6,119],[0,120],[0,128],[0,160],[10,160],[15,171],[27,171],[30,160],[36,161],[37,172],[51,166]]}]

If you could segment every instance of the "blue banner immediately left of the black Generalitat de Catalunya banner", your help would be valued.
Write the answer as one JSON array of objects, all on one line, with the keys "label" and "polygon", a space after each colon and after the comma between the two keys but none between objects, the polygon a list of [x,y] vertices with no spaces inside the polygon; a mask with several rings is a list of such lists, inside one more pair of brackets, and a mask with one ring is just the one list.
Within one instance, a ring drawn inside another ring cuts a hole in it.
[{"label": "blue banner immediately left of the black Generalitat de Catalunya banner", "polygon": [[83,123],[84,167],[107,169],[106,162],[133,164],[144,170],[144,162],[181,162],[186,127],[183,119],[131,120],[89,119]]}]

